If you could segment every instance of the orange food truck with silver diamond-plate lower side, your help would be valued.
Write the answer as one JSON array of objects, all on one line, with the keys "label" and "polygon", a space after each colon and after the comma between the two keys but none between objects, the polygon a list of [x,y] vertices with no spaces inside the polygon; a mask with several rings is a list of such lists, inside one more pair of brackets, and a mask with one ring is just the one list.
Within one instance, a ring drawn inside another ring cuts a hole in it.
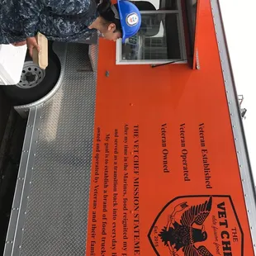
[{"label": "orange food truck with silver diamond-plate lower side", "polygon": [[57,82],[15,106],[27,127],[4,256],[255,255],[219,2],[135,3],[135,36],[51,43]]}]

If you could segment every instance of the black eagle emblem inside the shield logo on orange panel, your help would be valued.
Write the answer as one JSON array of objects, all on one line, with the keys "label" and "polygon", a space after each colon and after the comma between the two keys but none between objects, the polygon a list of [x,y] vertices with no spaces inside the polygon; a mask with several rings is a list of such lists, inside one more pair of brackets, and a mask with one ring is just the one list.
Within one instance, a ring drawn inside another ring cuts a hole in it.
[{"label": "black eagle emblem inside the shield logo on orange panel", "polygon": [[168,216],[167,226],[164,226],[159,233],[164,245],[168,246],[170,254],[178,255],[178,251],[182,250],[185,256],[213,256],[205,246],[201,245],[197,248],[195,245],[207,239],[203,223],[210,214],[211,204],[212,197],[202,204],[191,206],[183,212],[180,223],[174,216],[178,211],[187,208],[187,202],[175,206],[173,213]]}]

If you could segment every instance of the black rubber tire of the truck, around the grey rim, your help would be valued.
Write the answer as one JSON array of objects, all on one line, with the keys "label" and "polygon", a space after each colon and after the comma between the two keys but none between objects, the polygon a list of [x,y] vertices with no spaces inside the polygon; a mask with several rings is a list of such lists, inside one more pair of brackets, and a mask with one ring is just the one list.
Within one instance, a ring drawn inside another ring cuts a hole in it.
[{"label": "black rubber tire of the truck, around the grey rim", "polygon": [[[31,61],[26,57],[26,61]],[[16,85],[3,86],[3,91],[11,100],[13,106],[20,106],[36,102],[49,93],[57,83],[60,73],[59,58],[50,50],[48,56],[48,67],[45,69],[45,78],[33,88],[19,88]]]}]

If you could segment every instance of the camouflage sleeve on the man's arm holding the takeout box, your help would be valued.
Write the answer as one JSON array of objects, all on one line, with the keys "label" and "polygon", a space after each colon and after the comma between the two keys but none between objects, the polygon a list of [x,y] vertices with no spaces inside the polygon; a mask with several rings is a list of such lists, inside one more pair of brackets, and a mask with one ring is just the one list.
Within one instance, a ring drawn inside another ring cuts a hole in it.
[{"label": "camouflage sleeve on the man's arm holding the takeout box", "polygon": [[41,0],[20,0],[18,2],[20,5],[20,15],[23,22],[24,36],[35,36],[36,26],[44,4]]}]

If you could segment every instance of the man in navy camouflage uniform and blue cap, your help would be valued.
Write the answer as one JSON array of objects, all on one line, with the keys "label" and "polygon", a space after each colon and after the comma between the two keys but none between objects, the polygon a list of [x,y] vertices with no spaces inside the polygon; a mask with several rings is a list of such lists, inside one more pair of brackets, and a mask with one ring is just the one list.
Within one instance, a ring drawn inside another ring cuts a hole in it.
[{"label": "man in navy camouflage uniform and blue cap", "polygon": [[107,40],[134,36],[141,16],[129,1],[117,0],[0,0],[0,44],[27,45],[40,50],[36,33],[49,40],[78,41],[100,31]]}]

